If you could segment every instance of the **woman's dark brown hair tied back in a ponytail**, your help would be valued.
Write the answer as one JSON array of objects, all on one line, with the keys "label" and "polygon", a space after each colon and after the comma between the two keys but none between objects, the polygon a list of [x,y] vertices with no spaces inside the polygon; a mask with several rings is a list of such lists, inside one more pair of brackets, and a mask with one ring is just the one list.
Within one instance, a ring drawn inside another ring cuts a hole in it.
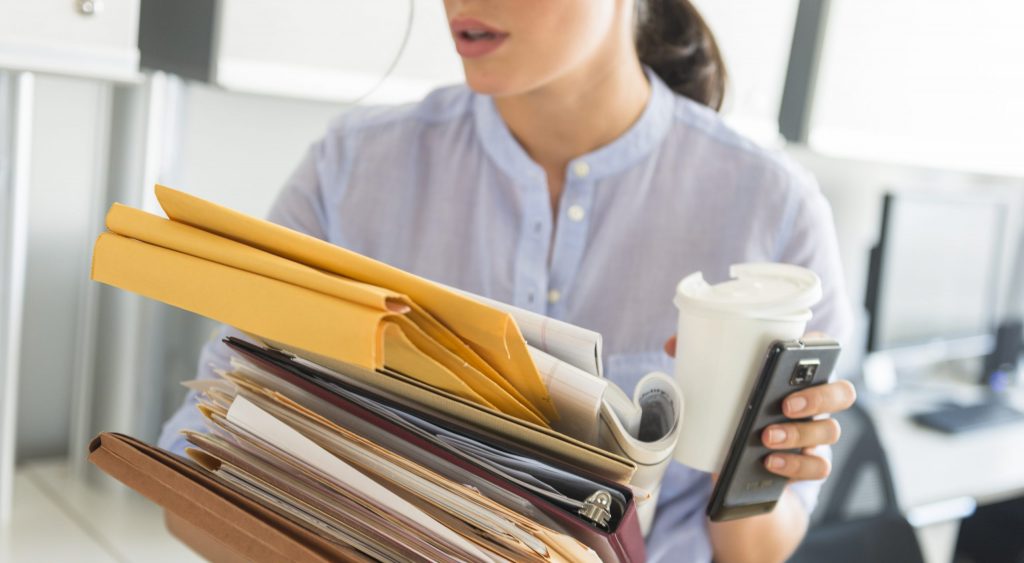
[{"label": "woman's dark brown hair tied back in a ponytail", "polygon": [[637,53],[674,91],[714,110],[725,96],[725,63],[689,0],[636,0]]}]

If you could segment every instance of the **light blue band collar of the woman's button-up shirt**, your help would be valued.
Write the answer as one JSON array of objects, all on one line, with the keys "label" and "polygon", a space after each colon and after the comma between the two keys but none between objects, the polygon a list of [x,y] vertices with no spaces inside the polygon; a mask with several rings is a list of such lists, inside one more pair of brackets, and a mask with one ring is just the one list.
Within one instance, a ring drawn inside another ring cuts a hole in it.
[{"label": "light blue band collar of the woman's button-up shirt", "polygon": [[[650,69],[644,68],[650,82],[650,97],[640,118],[625,133],[591,153],[568,163],[569,169],[585,162],[589,177],[598,179],[616,174],[649,155],[665,138],[672,125],[675,94]],[[544,169],[529,158],[502,120],[490,96],[474,94],[473,115],[476,134],[492,160],[510,177],[522,181],[544,177]]]}]

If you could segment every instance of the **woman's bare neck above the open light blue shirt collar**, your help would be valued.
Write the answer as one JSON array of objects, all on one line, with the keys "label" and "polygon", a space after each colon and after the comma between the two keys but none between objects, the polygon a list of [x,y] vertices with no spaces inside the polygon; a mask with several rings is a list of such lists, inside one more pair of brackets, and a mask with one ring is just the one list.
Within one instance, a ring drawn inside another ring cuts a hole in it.
[{"label": "woman's bare neck above the open light blue shirt collar", "polygon": [[547,172],[553,208],[569,161],[626,132],[650,97],[636,53],[617,51],[537,90],[495,99],[512,134]]}]

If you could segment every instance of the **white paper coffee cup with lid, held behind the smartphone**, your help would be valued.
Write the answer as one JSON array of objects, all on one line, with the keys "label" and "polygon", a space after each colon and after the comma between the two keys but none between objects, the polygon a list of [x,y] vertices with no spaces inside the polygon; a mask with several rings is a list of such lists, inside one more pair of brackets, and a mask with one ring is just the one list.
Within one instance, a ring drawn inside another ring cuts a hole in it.
[{"label": "white paper coffee cup with lid, held behind the smartphone", "polygon": [[769,345],[801,338],[821,299],[818,276],[800,266],[734,264],[729,275],[712,286],[695,272],[676,288],[686,410],[675,459],[708,472],[721,471]]}]

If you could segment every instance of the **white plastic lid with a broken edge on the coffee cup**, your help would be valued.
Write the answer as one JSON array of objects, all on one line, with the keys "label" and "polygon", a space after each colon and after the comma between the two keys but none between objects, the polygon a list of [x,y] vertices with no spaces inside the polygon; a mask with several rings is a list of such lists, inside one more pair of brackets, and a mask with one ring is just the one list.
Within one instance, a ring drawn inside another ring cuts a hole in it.
[{"label": "white plastic lid with a broken edge on the coffee cup", "polygon": [[811,270],[792,264],[757,262],[733,264],[732,279],[705,282],[698,271],[676,288],[676,306],[696,307],[752,317],[810,317],[810,307],[821,299],[821,280]]}]

